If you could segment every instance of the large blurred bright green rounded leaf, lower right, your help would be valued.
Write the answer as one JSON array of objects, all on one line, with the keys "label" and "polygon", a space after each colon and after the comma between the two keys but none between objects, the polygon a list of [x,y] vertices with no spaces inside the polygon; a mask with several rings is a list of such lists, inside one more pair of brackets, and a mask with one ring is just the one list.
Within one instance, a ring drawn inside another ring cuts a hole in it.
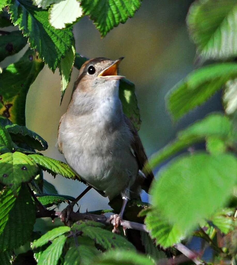
[{"label": "large blurred bright green rounded leaf, lower right", "polygon": [[197,152],[179,157],[161,170],[153,183],[153,205],[162,218],[181,232],[189,232],[227,202],[236,172],[237,160],[231,154]]}]

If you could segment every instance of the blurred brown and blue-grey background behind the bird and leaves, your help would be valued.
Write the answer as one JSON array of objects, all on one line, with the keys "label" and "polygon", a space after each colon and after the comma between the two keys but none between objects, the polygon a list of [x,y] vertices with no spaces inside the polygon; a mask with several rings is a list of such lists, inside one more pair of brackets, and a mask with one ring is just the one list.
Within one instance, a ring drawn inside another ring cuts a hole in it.
[{"label": "blurred brown and blue-grey background behind the bird and leaves", "polygon": [[[88,58],[125,56],[120,73],[136,85],[142,125],[139,135],[148,156],[162,148],[186,127],[211,110],[220,109],[219,96],[189,113],[178,123],[171,121],[165,109],[165,95],[178,81],[194,69],[195,46],[190,41],[185,18],[187,0],[144,0],[132,19],[120,24],[101,39],[92,21],[84,17],[74,25],[76,51]],[[8,60],[8,59],[7,59]],[[4,62],[6,64],[7,60]],[[26,126],[40,134],[49,144],[45,155],[64,161],[56,147],[57,127],[70,100],[78,70],[73,69],[71,82],[60,107],[60,76],[44,67],[30,88],[26,102]],[[60,194],[78,196],[85,185],[61,176],[55,179],[44,173]],[[147,200],[145,194],[143,199]],[[108,200],[94,190],[84,196],[81,211],[106,209]],[[63,207],[63,206],[61,206]]]}]

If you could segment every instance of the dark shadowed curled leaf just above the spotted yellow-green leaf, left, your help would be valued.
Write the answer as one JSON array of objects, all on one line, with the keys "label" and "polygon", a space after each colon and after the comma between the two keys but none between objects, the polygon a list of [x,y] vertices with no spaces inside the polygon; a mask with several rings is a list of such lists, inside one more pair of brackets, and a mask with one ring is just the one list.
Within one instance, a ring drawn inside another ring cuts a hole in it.
[{"label": "dark shadowed curled leaf just above the spotted yellow-green leaf, left", "polygon": [[27,143],[31,148],[39,151],[44,151],[48,148],[47,142],[41,136],[25,126],[12,124],[7,125],[6,129],[14,142]]}]

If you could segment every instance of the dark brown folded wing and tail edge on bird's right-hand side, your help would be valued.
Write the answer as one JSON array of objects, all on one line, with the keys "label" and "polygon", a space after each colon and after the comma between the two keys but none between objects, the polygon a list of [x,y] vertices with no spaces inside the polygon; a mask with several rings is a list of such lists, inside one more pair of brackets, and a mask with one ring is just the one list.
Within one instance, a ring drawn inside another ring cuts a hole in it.
[{"label": "dark brown folded wing and tail edge on bird's right-hand side", "polygon": [[147,164],[147,161],[148,161],[147,155],[145,153],[145,150],[144,150],[144,147],[142,145],[141,139],[138,135],[138,132],[136,131],[135,127],[133,126],[131,121],[126,116],[125,116],[125,121],[126,121],[127,125],[129,126],[129,129],[131,130],[132,134],[133,134],[133,142],[131,144],[131,148],[134,151],[136,160],[138,162],[139,169],[142,170],[143,167],[146,165],[146,171],[148,173],[145,174],[146,178],[143,181],[142,189],[144,189],[144,191],[148,192],[150,185],[152,183],[152,180],[154,179],[154,175],[153,175],[151,169],[149,168],[149,165]]}]

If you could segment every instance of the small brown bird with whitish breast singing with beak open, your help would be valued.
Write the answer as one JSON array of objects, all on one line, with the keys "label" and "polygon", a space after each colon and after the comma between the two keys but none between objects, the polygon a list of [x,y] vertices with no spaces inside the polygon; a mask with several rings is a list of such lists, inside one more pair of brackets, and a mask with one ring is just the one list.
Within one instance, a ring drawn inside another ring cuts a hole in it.
[{"label": "small brown bird with whitish breast singing with beak open", "polygon": [[148,192],[152,171],[142,172],[147,156],[138,132],[125,116],[119,98],[118,67],[124,57],[86,61],[80,68],[67,111],[60,119],[57,144],[67,164],[87,184],[112,200],[127,201]]}]

